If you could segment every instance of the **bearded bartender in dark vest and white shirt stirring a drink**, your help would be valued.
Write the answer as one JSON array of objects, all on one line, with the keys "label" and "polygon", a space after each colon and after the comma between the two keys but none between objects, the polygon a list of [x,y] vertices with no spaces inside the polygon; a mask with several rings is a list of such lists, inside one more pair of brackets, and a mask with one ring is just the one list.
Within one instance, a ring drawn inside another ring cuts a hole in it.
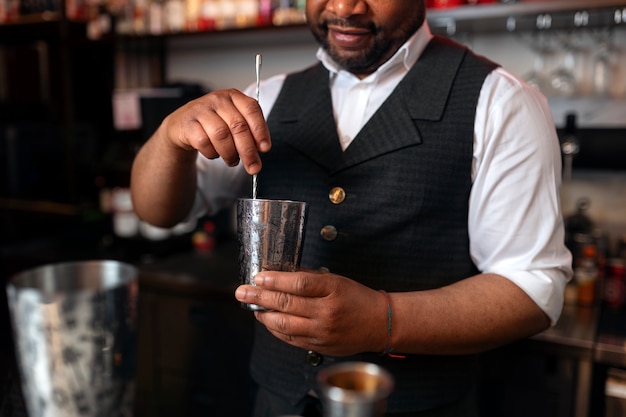
[{"label": "bearded bartender in dark vest and white shirt stirring a drink", "polygon": [[172,226],[258,195],[309,205],[299,272],[261,272],[256,417],[320,415],[316,375],[394,376],[390,416],[476,416],[476,354],[554,325],[571,278],[545,98],[433,36],[424,0],[308,0],[319,63],[167,116],[132,169]]}]

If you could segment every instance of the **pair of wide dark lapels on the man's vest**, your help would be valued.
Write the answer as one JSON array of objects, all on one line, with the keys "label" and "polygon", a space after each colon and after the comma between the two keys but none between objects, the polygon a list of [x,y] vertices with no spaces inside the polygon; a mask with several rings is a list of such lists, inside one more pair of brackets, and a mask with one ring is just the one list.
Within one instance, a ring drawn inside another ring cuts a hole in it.
[{"label": "pair of wide dark lapels on the man's vest", "polygon": [[[415,120],[439,120],[450,96],[455,75],[466,54],[450,41],[435,37],[422,56],[342,151],[328,87],[328,71],[318,64],[297,77],[288,77],[272,113],[276,122],[297,134],[284,140],[307,157],[336,173],[379,155],[422,142]],[[298,98],[298,102],[294,101]],[[280,104],[279,104],[280,103]],[[315,117],[311,117],[315,115]]]}]

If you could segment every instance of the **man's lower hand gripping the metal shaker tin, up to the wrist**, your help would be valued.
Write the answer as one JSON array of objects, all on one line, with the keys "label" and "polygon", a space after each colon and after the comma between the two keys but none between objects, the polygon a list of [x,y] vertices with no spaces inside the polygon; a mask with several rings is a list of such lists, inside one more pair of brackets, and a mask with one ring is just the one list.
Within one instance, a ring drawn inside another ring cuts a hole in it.
[{"label": "man's lower hand gripping the metal shaker tin, up to the wrist", "polygon": [[264,271],[254,280],[235,297],[269,309],[254,314],[277,338],[334,356],[384,349],[387,303],[378,291],[330,273]]}]

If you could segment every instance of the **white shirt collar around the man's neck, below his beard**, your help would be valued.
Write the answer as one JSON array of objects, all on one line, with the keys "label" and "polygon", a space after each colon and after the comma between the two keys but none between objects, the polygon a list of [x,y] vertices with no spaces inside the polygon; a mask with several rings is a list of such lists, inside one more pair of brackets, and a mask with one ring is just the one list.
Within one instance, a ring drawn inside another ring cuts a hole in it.
[{"label": "white shirt collar around the man's neck, below his beard", "polygon": [[[384,74],[390,69],[402,64],[404,65],[405,70],[408,71],[415,64],[415,62],[417,62],[432,37],[433,35],[430,31],[430,27],[428,26],[428,22],[424,20],[424,24],[422,24],[422,26],[400,47],[400,49],[398,49],[387,62],[381,65],[367,78],[377,78],[380,74]],[[321,61],[324,67],[326,67],[326,69],[330,72],[331,77],[341,72],[347,73],[347,71],[335,62],[322,47],[317,50],[317,59]]]}]

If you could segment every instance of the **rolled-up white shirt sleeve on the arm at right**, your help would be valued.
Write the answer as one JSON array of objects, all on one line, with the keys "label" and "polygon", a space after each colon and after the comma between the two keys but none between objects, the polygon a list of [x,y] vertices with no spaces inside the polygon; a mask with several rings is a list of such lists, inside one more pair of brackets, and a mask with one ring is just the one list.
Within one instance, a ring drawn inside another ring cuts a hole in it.
[{"label": "rolled-up white shirt sleeve on the arm at right", "polygon": [[476,113],[472,259],[480,271],[518,285],[554,325],[572,258],[564,243],[561,153],[547,100],[498,69],[485,80]]}]

